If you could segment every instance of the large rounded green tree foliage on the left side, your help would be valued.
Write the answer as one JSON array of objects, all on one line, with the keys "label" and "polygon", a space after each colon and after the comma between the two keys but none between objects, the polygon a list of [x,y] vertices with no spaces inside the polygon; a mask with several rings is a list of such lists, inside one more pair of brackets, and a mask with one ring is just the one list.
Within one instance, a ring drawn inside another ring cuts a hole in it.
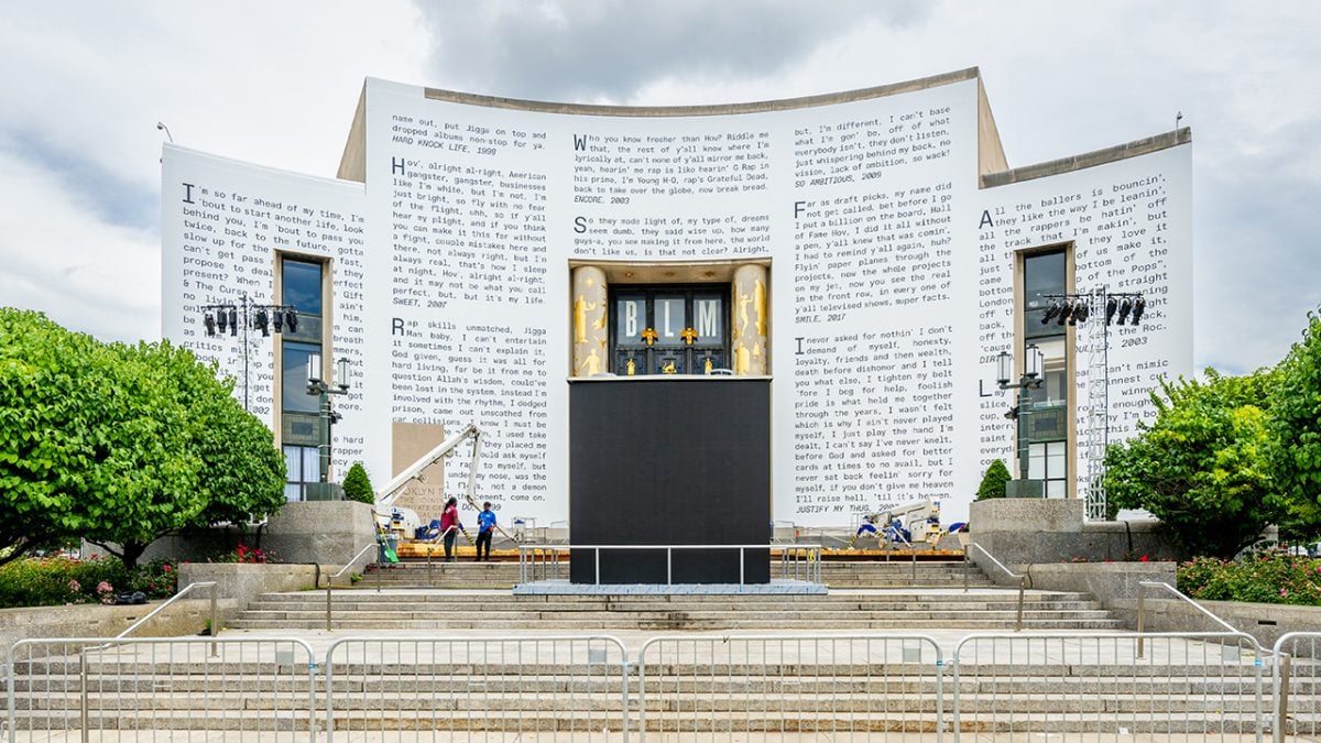
[{"label": "large rounded green tree foliage on the left side", "polygon": [[276,510],[284,459],[231,390],[166,341],[0,308],[0,563],[85,537],[132,567],[168,531]]}]

